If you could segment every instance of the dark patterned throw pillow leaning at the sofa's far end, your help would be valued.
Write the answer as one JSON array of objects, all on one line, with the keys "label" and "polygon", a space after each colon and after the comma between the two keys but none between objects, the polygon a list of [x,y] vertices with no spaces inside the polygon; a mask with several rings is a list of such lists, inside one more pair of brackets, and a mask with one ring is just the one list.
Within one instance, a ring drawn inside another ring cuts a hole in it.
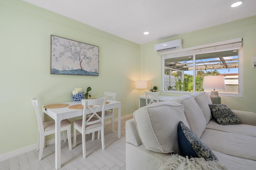
[{"label": "dark patterned throw pillow leaning at the sofa's far end", "polygon": [[225,104],[209,104],[212,116],[220,125],[236,125],[241,121]]}]

